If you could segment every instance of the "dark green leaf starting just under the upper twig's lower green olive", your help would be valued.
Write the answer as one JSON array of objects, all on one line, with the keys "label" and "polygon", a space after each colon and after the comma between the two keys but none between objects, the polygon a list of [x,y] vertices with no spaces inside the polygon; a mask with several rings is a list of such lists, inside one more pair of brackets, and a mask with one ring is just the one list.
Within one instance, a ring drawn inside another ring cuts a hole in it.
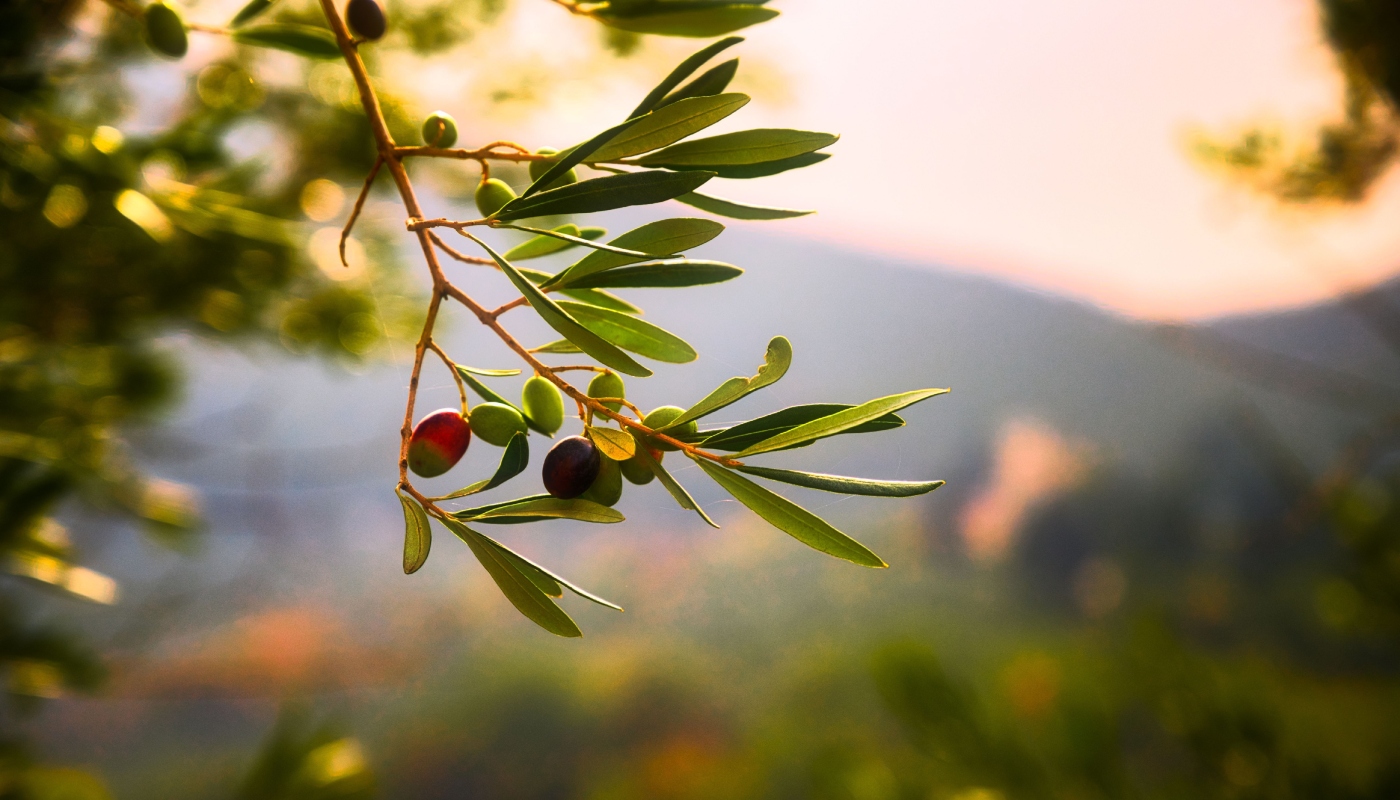
[{"label": "dark green leaf starting just under the upper twig's lower green olive", "polygon": [[693,192],[714,172],[623,172],[546,189],[528,198],[515,198],[494,214],[498,220],[522,220],[550,214],[588,214],[627,206],[661,203]]}]

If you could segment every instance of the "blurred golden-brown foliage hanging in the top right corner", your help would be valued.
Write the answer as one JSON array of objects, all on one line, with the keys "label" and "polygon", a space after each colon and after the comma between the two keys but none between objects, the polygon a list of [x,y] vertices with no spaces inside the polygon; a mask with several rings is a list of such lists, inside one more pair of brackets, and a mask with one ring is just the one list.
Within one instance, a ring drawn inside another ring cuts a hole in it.
[{"label": "blurred golden-brown foliage hanging in the top right corner", "polygon": [[1389,0],[1320,0],[1320,11],[1345,83],[1343,119],[1308,144],[1260,126],[1193,143],[1203,163],[1285,203],[1359,202],[1396,156],[1400,11]]}]

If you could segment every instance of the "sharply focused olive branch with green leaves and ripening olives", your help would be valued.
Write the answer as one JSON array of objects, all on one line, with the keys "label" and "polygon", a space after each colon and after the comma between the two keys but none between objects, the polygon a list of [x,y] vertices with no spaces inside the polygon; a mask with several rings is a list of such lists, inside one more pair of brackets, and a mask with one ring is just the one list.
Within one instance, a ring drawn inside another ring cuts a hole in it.
[{"label": "sharply focused olive branch with green leaves and ripening olives", "polygon": [[[638,319],[636,315],[640,314],[640,308],[606,290],[701,286],[739,276],[743,270],[734,265],[690,259],[685,255],[685,251],[713,240],[724,226],[704,219],[668,219],[648,223],[603,242],[602,228],[580,228],[570,223],[546,230],[521,223],[536,217],[588,214],[665,200],[678,200],[717,216],[748,220],[777,220],[811,213],[750,206],[697,192],[701,185],[717,177],[762,178],[818,164],[829,157],[822,150],[837,140],[837,136],[827,133],[788,129],[741,130],[692,139],[694,133],[728,118],[749,102],[745,94],[725,91],[738,69],[738,59],[710,67],[686,83],[717,55],[742,42],[742,38],[728,36],[703,48],[652,88],[622,123],[561,153],[532,150],[510,140],[497,140],[475,149],[454,149],[456,123],[444,112],[435,112],[424,122],[423,146],[400,146],[389,133],[374,83],[360,57],[360,46],[378,39],[386,29],[384,8],[378,0],[350,0],[344,18],[335,0],[319,0],[329,29],[280,24],[248,27],[246,22],[266,11],[273,0],[252,0],[228,28],[185,24],[179,13],[164,3],[153,3],[143,11],[130,4],[130,0],[106,1],[120,11],[144,18],[147,39],[157,52],[167,56],[182,56],[188,46],[185,32],[195,29],[230,35],[239,43],[297,52],[308,57],[339,57],[349,67],[370,122],[377,157],[342,230],[342,262],[344,262],[346,242],[374,181],[386,171],[407,213],[405,227],[417,238],[433,280],[423,329],[413,350],[400,427],[399,481],[395,486],[405,516],[406,573],[416,572],[427,560],[431,548],[430,518],[435,518],[466,542],[503,594],[525,616],[552,633],[581,636],[574,621],[554,601],[563,595],[564,588],[619,611],[620,607],[578,588],[473,530],[468,523],[515,524],[547,518],[623,521],[624,517],[610,507],[620,497],[620,471],[633,483],[655,479],[679,506],[696,511],[707,524],[718,527],[662,467],[664,453],[673,451],[692,460],[725,492],[798,541],[857,565],[885,567],[888,565],[865,545],[745,475],[825,492],[885,497],[923,495],[944,483],[847,478],[756,467],[745,460],[764,453],[804,447],[830,436],[900,427],[904,420],[896,412],[945,394],[948,389],[918,389],[860,405],[806,404],[729,427],[700,430],[700,419],[783,378],[792,360],[791,345],[783,336],[769,342],[764,361],[753,375],[729,378],[689,408],[662,406],[644,413],[626,399],[617,373],[637,378],[652,374],[627,352],[672,363],[694,360],[696,353],[675,335]],[[776,10],[767,8],[763,3],[720,0],[685,3],[554,0],[554,3],[574,14],[623,31],[697,38],[729,34],[777,15]],[[476,193],[482,217],[469,220],[428,217],[419,203],[405,167],[407,158],[476,161],[482,170],[482,182]],[[493,161],[526,164],[532,184],[517,196],[511,186],[490,177]],[[578,179],[580,167],[603,175]],[[514,230],[533,234],[533,238],[503,255],[477,235],[486,230]],[[438,231],[454,231],[484,255],[469,255],[455,249],[442,241]],[[557,273],[526,270],[514,263],[580,247],[592,252]],[[497,308],[486,308],[445,275],[441,256],[494,268],[511,282],[519,297]],[[554,300],[560,296],[570,300]],[[433,332],[445,301],[452,301],[475,315],[533,371],[535,377],[526,382],[526,396],[519,408],[479,378],[515,375],[521,370],[482,370],[458,364],[434,340]],[[501,318],[526,305],[563,339],[526,347],[511,335],[501,324]],[[428,352],[434,353],[452,374],[462,409],[461,413],[452,409],[435,412],[414,426],[419,384]],[[549,366],[540,360],[549,353],[582,353],[602,366]],[[571,371],[595,375],[588,389],[581,389],[566,380],[564,373]],[[545,385],[540,385],[540,381]],[[468,408],[468,388],[486,401],[475,412]],[[529,394],[532,391],[546,412],[538,409],[532,412]],[[577,406],[584,423],[584,436],[564,439],[546,457],[545,483],[549,495],[475,509],[448,510],[442,506],[451,500],[486,492],[519,475],[529,462],[526,444],[529,430],[553,437],[563,425],[560,392]],[[494,406],[493,415],[498,412],[510,416],[511,422],[505,427],[491,422],[483,411],[489,406]],[[515,425],[515,420],[519,425],[512,430],[510,426]],[[595,425],[599,420],[616,423],[617,427]],[[441,429],[440,423],[448,429]],[[448,430],[444,436],[451,439],[451,447],[433,450],[441,444],[434,439],[441,430]],[[490,478],[442,496],[424,495],[414,486],[409,475],[410,468],[428,476],[445,472],[465,453],[472,433],[476,433],[477,439],[504,447],[501,462]],[[414,465],[414,457],[416,453],[428,451],[435,454],[437,462],[424,471]],[[612,490],[598,489],[605,475],[615,483]],[[567,490],[556,489],[561,481],[568,485]]]}]

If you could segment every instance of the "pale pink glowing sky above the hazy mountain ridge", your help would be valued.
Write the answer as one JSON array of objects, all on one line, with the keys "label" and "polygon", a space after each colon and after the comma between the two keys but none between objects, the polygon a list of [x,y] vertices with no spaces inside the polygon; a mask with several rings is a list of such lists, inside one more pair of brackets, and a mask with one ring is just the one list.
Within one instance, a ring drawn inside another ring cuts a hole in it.
[{"label": "pale pink glowing sky above the hazy mountain ridge", "polygon": [[[738,52],[760,77],[783,76],[787,99],[764,97],[760,81],[755,102],[717,130],[788,126],[843,139],[819,167],[711,184],[721,196],[820,210],[766,230],[1169,318],[1306,303],[1400,263],[1396,175],[1364,206],[1298,213],[1187,156],[1193,127],[1274,120],[1306,133],[1337,113],[1315,0],[774,6],[783,15],[745,31]],[[596,41],[589,21],[542,0],[512,14],[510,35],[473,48],[528,52],[575,83],[553,90],[546,113],[496,116],[494,133],[587,136],[699,48],[657,41],[641,64],[591,71],[581,67]],[[462,63],[419,76],[433,87],[426,102],[455,101],[468,115],[493,77]]]}]

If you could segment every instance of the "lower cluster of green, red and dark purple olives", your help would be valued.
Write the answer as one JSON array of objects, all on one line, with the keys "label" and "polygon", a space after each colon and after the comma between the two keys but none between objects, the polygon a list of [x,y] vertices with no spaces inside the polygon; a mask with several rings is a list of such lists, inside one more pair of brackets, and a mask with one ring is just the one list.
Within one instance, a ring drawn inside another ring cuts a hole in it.
[{"label": "lower cluster of green, red and dark purple olives", "polygon": [[[608,399],[603,405],[617,411],[622,408],[620,401],[626,398],[626,385],[616,373],[599,373],[588,384],[588,396]],[[650,429],[659,429],[682,413],[685,411],[679,406],[665,405],[645,415],[641,422]],[[473,436],[487,444],[505,447],[517,433],[526,433],[531,426],[553,436],[563,425],[563,395],[553,382],[535,375],[525,381],[518,409],[504,402],[483,402],[466,412],[445,408],[424,416],[409,440],[409,468],[423,478],[435,478],[462,460]],[[697,425],[692,420],[682,425],[676,436],[685,437],[696,430]],[[650,483],[655,474],[648,461],[659,464],[666,451],[678,450],[673,444],[636,433],[633,439],[636,454],[623,461],[605,455],[587,436],[570,436],[557,441],[545,455],[545,490],[564,500],[582,497],[603,506],[616,504],[622,499],[623,479],[638,486]]]}]

